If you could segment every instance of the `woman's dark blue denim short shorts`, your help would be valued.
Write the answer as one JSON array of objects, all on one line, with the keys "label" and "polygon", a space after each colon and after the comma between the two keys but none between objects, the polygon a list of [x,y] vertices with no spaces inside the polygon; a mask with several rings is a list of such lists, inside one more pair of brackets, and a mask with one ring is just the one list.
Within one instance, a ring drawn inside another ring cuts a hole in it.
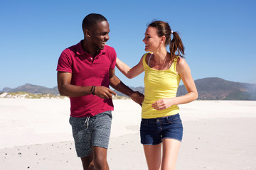
[{"label": "woman's dark blue denim short shorts", "polygon": [[165,138],[181,141],[183,125],[180,115],[142,119],[140,136],[143,145],[158,145]]}]

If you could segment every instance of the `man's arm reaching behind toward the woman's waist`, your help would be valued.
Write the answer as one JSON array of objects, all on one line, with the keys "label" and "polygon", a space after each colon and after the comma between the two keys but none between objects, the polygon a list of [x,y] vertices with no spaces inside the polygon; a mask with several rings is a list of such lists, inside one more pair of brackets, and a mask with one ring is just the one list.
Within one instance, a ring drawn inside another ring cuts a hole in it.
[{"label": "man's arm reaching behind toward the woman's waist", "polygon": [[114,73],[114,69],[110,69],[110,86],[112,86],[117,91],[120,91],[122,94],[126,94],[127,96],[132,98],[133,101],[139,103],[140,105],[144,100],[143,94],[139,93],[138,91],[133,91],[118,79],[118,77]]}]

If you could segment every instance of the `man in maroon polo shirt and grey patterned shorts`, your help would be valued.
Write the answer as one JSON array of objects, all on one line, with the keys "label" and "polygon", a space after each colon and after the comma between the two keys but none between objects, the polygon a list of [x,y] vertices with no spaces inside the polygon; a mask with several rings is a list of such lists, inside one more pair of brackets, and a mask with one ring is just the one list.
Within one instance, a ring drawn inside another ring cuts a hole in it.
[{"label": "man in maroon polo shirt and grey patterned shorts", "polygon": [[113,111],[114,89],[142,103],[144,96],[125,86],[114,74],[116,52],[106,45],[110,39],[107,19],[96,13],[82,21],[84,40],[65,49],[58,61],[58,90],[69,96],[70,124],[75,149],[83,169],[109,169],[107,147]]}]

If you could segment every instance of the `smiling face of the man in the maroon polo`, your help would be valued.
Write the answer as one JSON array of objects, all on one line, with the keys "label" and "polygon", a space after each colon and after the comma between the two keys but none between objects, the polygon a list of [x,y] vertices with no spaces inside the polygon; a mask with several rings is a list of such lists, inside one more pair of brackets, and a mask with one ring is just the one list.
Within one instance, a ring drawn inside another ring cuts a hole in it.
[{"label": "smiling face of the man in the maroon polo", "polygon": [[90,29],[91,32],[91,42],[94,47],[99,50],[103,50],[107,40],[110,40],[110,26],[107,21],[102,21],[101,23],[95,24]]}]

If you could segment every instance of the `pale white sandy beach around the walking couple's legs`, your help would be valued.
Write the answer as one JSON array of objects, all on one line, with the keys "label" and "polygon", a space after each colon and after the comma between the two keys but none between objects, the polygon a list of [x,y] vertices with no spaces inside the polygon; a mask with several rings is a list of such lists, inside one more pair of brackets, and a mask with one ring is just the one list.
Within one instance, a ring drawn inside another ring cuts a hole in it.
[{"label": "pale white sandy beach around the walking couple's legs", "polygon": [[[147,169],[139,137],[141,107],[130,99],[113,102],[110,169]],[[184,133],[177,170],[256,169],[256,101],[193,101],[179,107]],[[68,98],[0,98],[0,169],[82,169],[69,117]]]}]

